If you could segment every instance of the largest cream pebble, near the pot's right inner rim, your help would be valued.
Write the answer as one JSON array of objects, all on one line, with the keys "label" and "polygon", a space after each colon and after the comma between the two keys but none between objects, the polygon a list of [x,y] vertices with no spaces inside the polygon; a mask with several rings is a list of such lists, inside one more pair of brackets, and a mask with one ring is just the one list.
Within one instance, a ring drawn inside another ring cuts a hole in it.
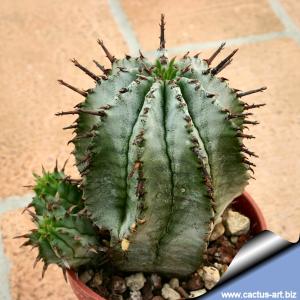
[{"label": "largest cream pebble, near the pot's right inner rim", "polygon": [[250,230],[249,218],[231,209],[228,210],[224,223],[227,233],[231,235],[246,234]]}]

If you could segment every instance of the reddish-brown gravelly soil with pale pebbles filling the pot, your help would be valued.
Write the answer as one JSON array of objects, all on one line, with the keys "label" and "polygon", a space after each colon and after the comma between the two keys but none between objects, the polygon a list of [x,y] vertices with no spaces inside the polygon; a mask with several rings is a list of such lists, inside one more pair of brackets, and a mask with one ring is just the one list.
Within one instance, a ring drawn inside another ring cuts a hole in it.
[{"label": "reddish-brown gravelly soil with pale pebbles filling the pot", "polygon": [[101,269],[78,270],[79,279],[97,294],[112,300],[176,300],[194,298],[212,289],[239,249],[252,237],[253,224],[234,206],[217,222],[204,264],[187,278],[159,274],[116,272],[108,264]]}]

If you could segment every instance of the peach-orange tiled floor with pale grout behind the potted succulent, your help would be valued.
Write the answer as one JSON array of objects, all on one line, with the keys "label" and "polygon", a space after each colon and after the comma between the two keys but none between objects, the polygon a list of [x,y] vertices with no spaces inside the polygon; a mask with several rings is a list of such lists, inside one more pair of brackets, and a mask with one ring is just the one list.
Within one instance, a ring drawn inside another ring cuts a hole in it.
[{"label": "peach-orange tiled floor with pale grout behind the potted succulent", "polygon": [[[206,57],[221,41],[228,41],[224,55],[240,48],[222,73],[231,86],[268,86],[264,94],[247,98],[267,103],[257,111],[261,125],[252,131],[257,139],[251,147],[260,159],[248,191],[272,231],[290,241],[298,239],[299,1],[2,0],[0,8],[0,300],[74,299],[57,268],[50,268],[41,281],[40,267],[31,267],[34,253],[12,240],[31,224],[16,209],[25,200],[7,197],[27,194],[22,186],[32,183],[31,173],[39,172],[42,163],[50,168],[56,157],[61,162],[69,157],[72,147],[66,142],[71,136],[61,128],[73,118],[57,118],[54,113],[74,106],[80,96],[56,80],[63,77],[82,88],[93,83],[68,60],[76,57],[96,72],[92,59],[106,63],[98,37],[118,57],[138,47],[152,55],[158,46],[161,12],[166,15],[170,54],[191,49]],[[68,172],[76,172],[72,163]]]}]

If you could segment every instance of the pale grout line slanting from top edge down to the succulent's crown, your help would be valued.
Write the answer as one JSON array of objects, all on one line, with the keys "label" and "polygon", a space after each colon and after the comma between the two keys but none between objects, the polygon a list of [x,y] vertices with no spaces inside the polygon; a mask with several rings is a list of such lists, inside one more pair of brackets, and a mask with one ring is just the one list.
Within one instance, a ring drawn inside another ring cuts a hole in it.
[{"label": "pale grout line slanting from top edge down to the succulent's crown", "polygon": [[140,44],[136,38],[134,30],[132,29],[130,22],[124,13],[119,0],[108,0],[112,15],[118,24],[119,30],[121,31],[125,42],[127,43],[130,54],[137,55]]}]

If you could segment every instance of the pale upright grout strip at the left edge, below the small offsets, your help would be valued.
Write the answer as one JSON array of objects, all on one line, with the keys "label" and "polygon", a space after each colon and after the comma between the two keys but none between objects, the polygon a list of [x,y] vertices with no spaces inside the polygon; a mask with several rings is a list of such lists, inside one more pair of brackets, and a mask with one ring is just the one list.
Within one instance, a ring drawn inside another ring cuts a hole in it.
[{"label": "pale upright grout strip at the left edge, below the small offsets", "polygon": [[10,283],[9,283],[9,269],[10,263],[4,253],[4,247],[2,243],[2,235],[0,233],[0,299],[11,300],[10,296]]}]

